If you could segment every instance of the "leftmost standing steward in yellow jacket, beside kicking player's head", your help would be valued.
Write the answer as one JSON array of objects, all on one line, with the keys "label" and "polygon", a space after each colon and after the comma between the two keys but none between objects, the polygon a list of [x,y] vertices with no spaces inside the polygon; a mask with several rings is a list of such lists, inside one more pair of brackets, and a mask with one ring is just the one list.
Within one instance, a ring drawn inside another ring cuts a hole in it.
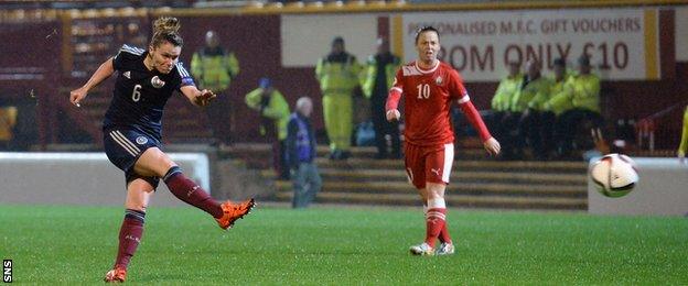
[{"label": "leftmost standing steward in yellow jacket, beside kicking player's head", "polygon": [[[214,31],[205,33],[205,46],[193,54],[191,58],[191,73],[198,79],[202,88],[214,90],[219,96],[218,102],[207,109],[209,118],[218,114],[228,114],[228,120],[209,120],[215,140],[229,143],[232,141],[232,130],[234,129],[234,110],[232,98],[226,97],[229,84],[239,74],[239,62],[234,53],[219,45],[219,36]],[[229,132],[221,132],[226,130]],[[219,135],[226,134],[226,135]]]}]

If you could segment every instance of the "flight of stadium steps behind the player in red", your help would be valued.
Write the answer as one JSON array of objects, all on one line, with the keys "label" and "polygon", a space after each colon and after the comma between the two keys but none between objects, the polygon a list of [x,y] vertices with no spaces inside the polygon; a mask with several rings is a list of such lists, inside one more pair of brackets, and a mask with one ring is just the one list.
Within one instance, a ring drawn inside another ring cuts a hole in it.
[{"label": "flight of stadium steps behind the player in red", "polygon": [[[462,141],[454,161],[448,204],[454,207],[501,209],[585,210],[587,165],[583,162],[499,162],[487,156],[473,139]],[[290,201],[291,182],[277,180],[269,169],[267,144],[235,144],[224,150],[227,156],[261,170],[275,182],[269,198]],[[354,147],[353,158],[330,161],[326,146],[319,146],[318,165],[323,190],[318,202],[353,205],[416,206],[418,195],[407,182],[400,160],[374,160],[373,147]]]}]

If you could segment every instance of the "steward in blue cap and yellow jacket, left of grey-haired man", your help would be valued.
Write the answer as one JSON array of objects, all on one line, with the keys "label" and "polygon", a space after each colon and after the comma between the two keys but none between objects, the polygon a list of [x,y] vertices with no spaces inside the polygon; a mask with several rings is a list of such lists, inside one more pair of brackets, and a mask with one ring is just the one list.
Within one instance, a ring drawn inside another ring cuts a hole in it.
[{"label": "steward in blue cap and yellow jacket, left of grey-haired man", "polygon": [[284,140],[289,122],[289,105],[284,96],[272,87],[269,78],[260,78],[258,88],[246,95],[246,105],[261,117],[260,134],[272,143],[272,166],[281,179],[289,179]]}]

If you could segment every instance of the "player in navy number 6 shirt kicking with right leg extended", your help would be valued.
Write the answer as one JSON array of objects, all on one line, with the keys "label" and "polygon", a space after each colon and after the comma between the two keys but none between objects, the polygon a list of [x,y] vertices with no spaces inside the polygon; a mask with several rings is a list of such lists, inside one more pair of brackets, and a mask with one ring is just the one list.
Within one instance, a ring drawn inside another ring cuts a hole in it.
[{"label": "player in navy number 6 shirt kicking with right leg extended", "polygon": [[172,94],[176,90],[200,107],[215,98],[209,90],[198,90],[179,62],[183,45],[179,29],[175,18],[155,20],[147,50],[123,45],[83,87],[69,95],[69,101],[79,107],[88,90],[117,72],[112,100],[103,123],[104,145],[110,162],[125,172],[127,198],[117,258],[106,274],[106,282],[125,282],[159,179],[175,197],[213,216],[225,230],[255,205],[254,199],[240,204],[216,201],[162,152],[162,111]]}]

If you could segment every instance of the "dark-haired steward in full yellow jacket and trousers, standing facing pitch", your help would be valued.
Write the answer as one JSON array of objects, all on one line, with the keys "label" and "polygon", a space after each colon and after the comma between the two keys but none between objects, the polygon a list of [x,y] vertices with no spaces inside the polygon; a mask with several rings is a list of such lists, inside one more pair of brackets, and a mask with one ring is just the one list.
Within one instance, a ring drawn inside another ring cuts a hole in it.
[{"label": "dark-haired steward in full yellow jacket and trousers, standing facing pitch", "polygon": [[315,66],[315,78],[323,94],[323,116],[330,139],[330,158],[351,156],[353,97],[358,87],[361,65],[344,50],[344,38],[332,41],[332,51]]}]

